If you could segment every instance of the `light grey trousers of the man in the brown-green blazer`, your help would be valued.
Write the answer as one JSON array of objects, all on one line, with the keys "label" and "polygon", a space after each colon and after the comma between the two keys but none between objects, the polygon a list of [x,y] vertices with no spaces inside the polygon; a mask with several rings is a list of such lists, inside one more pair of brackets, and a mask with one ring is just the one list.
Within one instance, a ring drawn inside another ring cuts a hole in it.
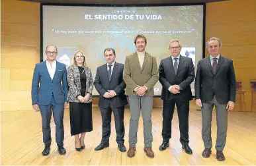
[{"label": "light grey trousers of the man in the brown-green blazer", "polygon": [[144,146],[152,147],[152,122],[151,112],[153,106],[152,96],[129,96],[130,103],[130,130],[129,130],[129,146],[135,147],[137,143],[138,124],[140,119],[140,107],[142,107],[143,130],[144,130]]}]

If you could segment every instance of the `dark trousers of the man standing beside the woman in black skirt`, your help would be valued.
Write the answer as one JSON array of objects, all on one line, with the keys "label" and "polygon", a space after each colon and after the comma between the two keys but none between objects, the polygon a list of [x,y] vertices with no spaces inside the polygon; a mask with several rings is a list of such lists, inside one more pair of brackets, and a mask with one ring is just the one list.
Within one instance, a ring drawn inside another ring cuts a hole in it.
[{"label": "dark trousers of the man standing beside the woman in black skirt", "polygon": [[103,123],[103,135],[101,143],[108,144],[111,133],[111,113],[114,113],[114,123],[116,126],[116,142],[124,143],[124,106],[114,108],[110,104],[107,108],[101,108],[101,118]]}]

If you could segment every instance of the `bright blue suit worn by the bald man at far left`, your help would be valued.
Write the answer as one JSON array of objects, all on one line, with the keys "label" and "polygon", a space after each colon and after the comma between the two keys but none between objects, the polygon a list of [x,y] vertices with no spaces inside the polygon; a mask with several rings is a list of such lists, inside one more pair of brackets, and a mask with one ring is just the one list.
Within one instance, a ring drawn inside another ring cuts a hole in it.
[{"label": "bright blue suit worn by the bald man at far left", "polygon": [[46,61],[36,64],[32,79],[32,105],[38,104],[42,115],[42,132],[44,144],[51,144],[50,121],[52,110],[56,124],[56,143],[64,141],[64,103],[67,100],[67,69],[63,63],[56,61],[54,78],[50,77]]}]

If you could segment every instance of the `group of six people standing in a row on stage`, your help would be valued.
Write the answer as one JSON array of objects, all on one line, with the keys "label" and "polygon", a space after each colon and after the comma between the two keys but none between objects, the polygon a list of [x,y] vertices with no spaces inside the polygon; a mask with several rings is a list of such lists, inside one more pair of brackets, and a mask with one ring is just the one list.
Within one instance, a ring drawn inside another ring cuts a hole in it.
[{"label": "group of six people standing in a row on stage", "polygon": [[[225,160],[228,110],[234,109],[235,72],[231,59],[220,55],[222,41],[210,38],[206,47],[209,57],[198,61],[196,76],[192,59],[180,55],[181,43],[171,40],[170,56],[162,59],[157,67],[156,58],[146,51],[147,39],[139,34],[134,39],[136,52],[126,56],[125,64],[115,61],[116,52],[112,48],[104,50],[105,65],[97,68],[93,81],[91,69],[87,67],[83,51],[76,51],[71,59],[71,66],[56,61],[58,49],[54,45],[46,47],[47,60],[36,64],[32,79],[32,107],[40,110],[42,115],[43,142],[42,155],[50,153],[51,129],[50,119],[53,112],[56,124],[56,143],[61,155],[64,148],[64,107],[69,103],[71,136],[75,137],[75,150],[85,149],[85,132],[93,130],[92,90],[93,85],[99,92],[99,108],[102,117],[102,139],[95,150],[109,146],[111,132],[111,113],[114,114],[116,142],[120,152],[126,152],[124,146],[124,106],[130,105],[129,149],[128,157],[136,153],[138,121],[142,109],[144,130],[144,152],[154,157],[152,150],[153,86],[159,82],[163,86],[163,142],[159,150],[169,147],[171,139],[171,121],[175,105],[179,117],[180,142],[183,150],[192,154],[189,147],[189,101],[192,100],[191,83],[195,78],[196,105],[202,109],[202,140],[204,150],[202,157],[210,157],[212,151],[211,123],[212,109],[216,107],[217,140],[216,158]],[[79,136],[80,134],[80,136]]]}]

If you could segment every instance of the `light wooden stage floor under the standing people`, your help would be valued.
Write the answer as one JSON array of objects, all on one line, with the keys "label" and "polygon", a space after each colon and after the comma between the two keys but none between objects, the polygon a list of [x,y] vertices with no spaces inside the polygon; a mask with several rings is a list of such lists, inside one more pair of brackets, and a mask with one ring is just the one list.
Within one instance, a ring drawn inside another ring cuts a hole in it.
[{"label": "light wooden stage floor under the standing people", "polygon": [[[130,111],[125,110],[125,146],[128,148]],[[256,113],[230,112],[228,115],[228,139],[224,154],[226,161],[216,160],[216,150],[205,159],[201,156],[204,146],[201,138],[201,113],[191,110],[189,116],[189,136],[193,150],[188,155],[181,149],[179,143],[179,124],[177,112],[173,117],[173,134],[170,148],[159,152],[162,142],[162,110],[153,109],[153,159],[143,152],[144,137],[142,117],[138,129],[138,144],[136,155],[127,157],[117,149],[115,141],[114,121],[112,117],[112,132],[110,147],[96,152],[94,148],[101,142],[101,114],[97,107],[93,108],[93,131],[85,136],[85,150],[75,151],[74,138],[70,136],[69,110],[65,110],[64,147],[66,155],[59,155],[55,142],[55,124],[52,119],[52,146],[48,157],[42,156],[42,124],[40,112],[2,111],[1,112],[1,165],[255,165],[256,164]],[[216,114],[212,119],[212,140],[216,140]]]}]

